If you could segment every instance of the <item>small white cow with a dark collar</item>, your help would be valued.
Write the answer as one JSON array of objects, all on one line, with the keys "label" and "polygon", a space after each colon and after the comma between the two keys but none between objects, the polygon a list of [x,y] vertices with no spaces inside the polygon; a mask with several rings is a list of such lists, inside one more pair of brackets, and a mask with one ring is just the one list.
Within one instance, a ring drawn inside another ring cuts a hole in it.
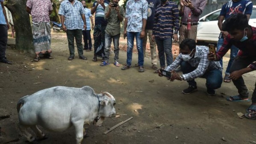
[{"label": "small white cow with a dark collar", "polygon": [[116,113],[115,102],[115,98],[108,92],[95,94],[89,86],[43,89],[18,101],[19,128],[31,142],[35,138],[27,131],[29,127],[39,139],[44,139],[45,134],[37,125],[55,132],[74,126],[76,144],[80,144],[86,135],[84,124],[92,121],[94,125],[102,124],[105,117]]}]

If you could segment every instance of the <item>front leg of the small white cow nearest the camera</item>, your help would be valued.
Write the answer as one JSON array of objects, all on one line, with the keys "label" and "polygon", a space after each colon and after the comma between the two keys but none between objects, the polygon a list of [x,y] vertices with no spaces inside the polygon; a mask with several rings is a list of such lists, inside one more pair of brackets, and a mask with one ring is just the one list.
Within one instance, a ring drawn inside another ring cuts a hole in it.
[{"label": "front leg of the small white cow nearest the camera", "polygon": [[81,144],[84,134],[83,134],[83,129],[84,129],[84,121],[73,121],[73,126],[75,127],[76,130],[76,144]]}]

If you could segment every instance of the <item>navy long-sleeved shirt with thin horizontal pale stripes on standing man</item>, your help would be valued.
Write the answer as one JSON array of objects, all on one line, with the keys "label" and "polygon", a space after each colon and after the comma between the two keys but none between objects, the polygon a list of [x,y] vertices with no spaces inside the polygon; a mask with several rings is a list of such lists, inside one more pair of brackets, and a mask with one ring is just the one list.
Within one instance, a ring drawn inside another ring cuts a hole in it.
[{"label": "navy long-sleeved shirt with thin horizontal pale stripes on standing man", "polygon": [[156,39],[172,38],[173,31],[179,29],[179,9],[174,2],[158,5],[154,17],[153,35]]}]

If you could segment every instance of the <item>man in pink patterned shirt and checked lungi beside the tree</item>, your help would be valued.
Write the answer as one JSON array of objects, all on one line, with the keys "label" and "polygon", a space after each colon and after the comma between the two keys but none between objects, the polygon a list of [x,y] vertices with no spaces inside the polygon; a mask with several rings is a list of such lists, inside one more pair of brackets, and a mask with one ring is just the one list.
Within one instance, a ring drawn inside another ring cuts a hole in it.
[{"label": "man in pink patterned shirt and checked lungi beside the tree", "polygon": [[40,54],[52,59],[51,25],[49,15],[52,13],[50,0],[27,0],[26,11],[32,16],[32,32],[35,47],[35,59],[39,61]]}]

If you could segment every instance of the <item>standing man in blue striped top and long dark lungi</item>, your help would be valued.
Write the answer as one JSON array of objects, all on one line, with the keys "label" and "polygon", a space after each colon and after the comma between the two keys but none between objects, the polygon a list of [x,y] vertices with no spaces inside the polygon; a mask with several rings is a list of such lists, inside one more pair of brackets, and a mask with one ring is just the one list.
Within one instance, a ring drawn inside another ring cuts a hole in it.
[{"label": "standing man in blue striped top and long dark lungi", "polygon": [[104,19],[104,12],[106,6],[108,6],[108,0],[96,0],[93,3],[91,14],[95,13],[95,27],[93,32],[94,39],[94,57],[93,61],[97,61],[97,57],[102,58],[104,61],[105,57],[105,29],[107,21]]}]

